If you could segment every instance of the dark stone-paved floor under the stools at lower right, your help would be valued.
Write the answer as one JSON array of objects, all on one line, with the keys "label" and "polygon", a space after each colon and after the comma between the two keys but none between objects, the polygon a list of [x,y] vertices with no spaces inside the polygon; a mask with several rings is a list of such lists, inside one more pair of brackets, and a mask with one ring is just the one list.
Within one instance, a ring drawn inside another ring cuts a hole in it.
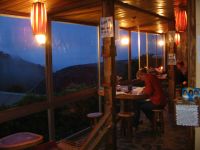
[{"label": "dark stone-paved floor under the stools at lower right", "polygon": [[[161,136],[155,135],[152,132],[144,114],[142,114],[141,119],[143,122],[137,131],[134,130],[132,138],[121,136],[118,125],[118,150],[192,150],[192,140],[189,134],[190,128],[176,126],[173,111],[169,112],[167,108],[164,112],[165,133]],[[78,142],[77,147],[79,147],[79,144]],[[65,142],[60,143],[60,145],[62,145],[63,149],[66,149]],[[100,150],[104,149],[102,145]],[[67,150],[70,150],[70,148],[67,148]]]}]

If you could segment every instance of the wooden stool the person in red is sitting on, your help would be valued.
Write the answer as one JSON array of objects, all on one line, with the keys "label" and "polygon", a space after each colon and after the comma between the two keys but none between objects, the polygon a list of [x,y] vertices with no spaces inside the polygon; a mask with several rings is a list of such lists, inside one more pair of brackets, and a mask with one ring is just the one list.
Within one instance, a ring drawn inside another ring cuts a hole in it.
[{"label": "wooden stool the person in red is sitting on", "polygon": [[153,113],[153,130],[160,135],[161,133],[164,133],[163,109],[154,109]]}]

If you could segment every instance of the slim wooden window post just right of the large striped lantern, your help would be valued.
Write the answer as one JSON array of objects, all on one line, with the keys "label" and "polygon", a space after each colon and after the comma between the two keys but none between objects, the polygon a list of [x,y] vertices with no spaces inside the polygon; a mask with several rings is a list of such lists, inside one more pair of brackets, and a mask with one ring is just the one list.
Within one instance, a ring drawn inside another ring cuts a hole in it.
[{"label": "slim wooden window post just right of the large striped lantern", "polygon": [[[46,66],[46,94],[47,99],[52,105],[53,101],[53,75],[52,75],[52,39],[51,39],[51,20],[47,18],[47,34],[46,34],[46,50],[45,50]],[[48,109],[48,128],[49,128],[49,140],[55,139],[55,125],[54,125],[54,110],[52,107]]]}]

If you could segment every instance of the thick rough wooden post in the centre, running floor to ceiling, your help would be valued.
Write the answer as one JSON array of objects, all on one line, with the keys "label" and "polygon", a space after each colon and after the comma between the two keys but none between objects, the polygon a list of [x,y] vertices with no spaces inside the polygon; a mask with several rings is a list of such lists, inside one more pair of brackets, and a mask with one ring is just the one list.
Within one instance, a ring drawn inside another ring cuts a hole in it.
[{"label": "thick rough wooden post in the centre, running floor to ceiling", "polygon": [[[113,30],[115,30],[114,0],[103,0],[103,17],[113,17]],[[114,34],[115,35],[115,34]],[[116,149],[116,114],[115,114],[115,96],[116,96],[116,71],[115,71],[115,37],[103,38],[103,65],[104,65],[104,99],[105,113],[111,112],[111,134],[108,137],[106,149]]]}]

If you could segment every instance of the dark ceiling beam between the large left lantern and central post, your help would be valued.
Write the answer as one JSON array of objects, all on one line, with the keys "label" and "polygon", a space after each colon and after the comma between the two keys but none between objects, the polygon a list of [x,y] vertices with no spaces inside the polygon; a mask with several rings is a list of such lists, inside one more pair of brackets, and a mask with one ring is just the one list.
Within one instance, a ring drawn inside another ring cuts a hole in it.
[{"label": "dark ceiling beam between the large left lantern and central post", "polygon": [[95,7],[98,6],[99,3],[97,2],[93,2],[93,3],[89,3],[88,1],[80,1],[80,3],[76,3],[70,6],[66,6],[66,7],[62,7],[59,8],[55,11],[49,12],[50,16],[56,16],[60,13],[64,13],[64,12],[70,12],[70,11],[75,11],[75,10],[80,10],[80,8],[91,8],[91,7]]}]

